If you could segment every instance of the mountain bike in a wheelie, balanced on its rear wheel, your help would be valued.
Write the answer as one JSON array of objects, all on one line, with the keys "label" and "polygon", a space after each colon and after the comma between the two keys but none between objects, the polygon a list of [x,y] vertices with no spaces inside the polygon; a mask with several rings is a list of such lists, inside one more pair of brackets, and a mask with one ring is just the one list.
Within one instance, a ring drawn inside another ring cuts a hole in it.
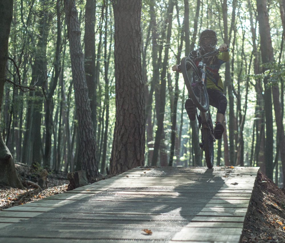
[{"label": "mountain bike in a wheelie, balanced on its rear wheel", "polygon": [[[208,168],[213,168],[214,165],[214,127],[209,111],[209,96],[205,86],[205,69],[206,63],[204,58],[217,55],[219,50],[211,51],[205,55],[197,56],[194,61],[189,57],[184,57],[181,60],[181,70],[184,78],[188,94],[193,103],[200,110],[200,115],[196,112],[199,127],[201,130],[200,147],[205,152],[205,159]],[[199,62],[198,67],[195,65]]]}]

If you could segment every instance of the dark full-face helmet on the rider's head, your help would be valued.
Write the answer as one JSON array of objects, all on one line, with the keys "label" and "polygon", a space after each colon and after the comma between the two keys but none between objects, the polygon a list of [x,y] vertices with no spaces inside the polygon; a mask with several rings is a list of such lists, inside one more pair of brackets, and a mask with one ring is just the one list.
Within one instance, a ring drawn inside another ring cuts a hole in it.
[{"label": "dark full-face helmet on the rider's head", "polygon": [[199,37],[199,46],[205,53],[213,51],[217,45],[217,33],[211,29],[205,29]]}]

